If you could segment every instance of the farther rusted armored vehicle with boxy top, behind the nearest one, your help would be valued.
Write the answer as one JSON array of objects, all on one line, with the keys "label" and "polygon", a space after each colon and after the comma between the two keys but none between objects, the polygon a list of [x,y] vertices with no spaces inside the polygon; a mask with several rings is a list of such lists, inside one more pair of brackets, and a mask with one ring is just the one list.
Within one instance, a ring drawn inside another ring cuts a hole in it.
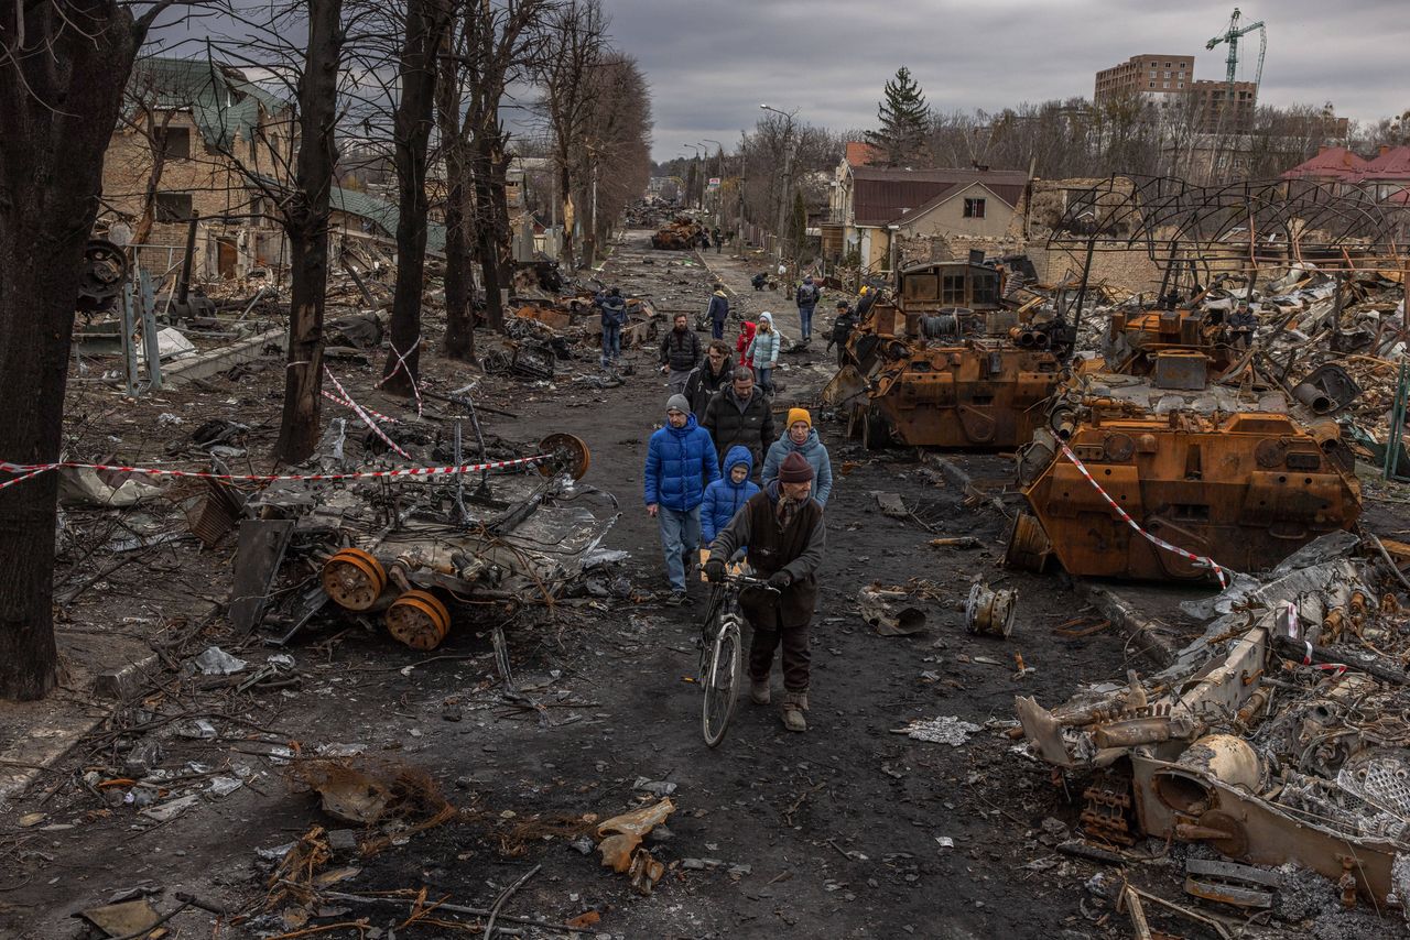
[{"label": "farther rusted armored vehicle with boxy top, behind the nearest one", "polygon": [[823,390],[867,447],[1014,448],[1043,421],[1073,330],[1003,302],[1003,268],[932,262],[897,275]]}]

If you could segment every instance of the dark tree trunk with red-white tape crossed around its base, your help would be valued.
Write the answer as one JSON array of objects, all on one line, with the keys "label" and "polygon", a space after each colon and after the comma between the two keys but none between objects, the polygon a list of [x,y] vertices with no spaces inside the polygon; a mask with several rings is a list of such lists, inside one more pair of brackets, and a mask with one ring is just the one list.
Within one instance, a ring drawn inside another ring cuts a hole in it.
[{"label": "dark tree trunk with red-white tape crossed around its base", "polygon": [[422,290],[426,287],[426,145],[431,135],[436,54],[450,16],[440,0],[409,0],[400,56],[400,97],[393,114],[396,163],[396,290],[392,350],[382,366],[386,390],[410,395],[420,375]]}]

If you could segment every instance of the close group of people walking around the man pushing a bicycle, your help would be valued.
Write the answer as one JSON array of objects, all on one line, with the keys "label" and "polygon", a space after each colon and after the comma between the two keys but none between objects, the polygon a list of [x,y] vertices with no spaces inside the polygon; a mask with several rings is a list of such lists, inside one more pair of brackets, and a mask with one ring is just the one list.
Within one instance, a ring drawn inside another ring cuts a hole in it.
[{"label": "close group of people walking around the man pushing a bicycle", "polygon": [[[677,317],[661,342],[661,371],[671,395],[666,424],[647,443],[643,489],[646,510],[660,530],[668,603],[685,603],[704,548],[709,550],[704,568],[711,581],[722,579],[725,565],[742,555],[757,576],[778,590],[740,595],[740,607],[753,626],[750,699],[771,702],[768,675],[781,648],[784,726],[802,731],[808,633],[816,606],[832,462],[807,409],[790,409],[783,433],[776,430],[773,396],[766,385],[777,362],[771,320],[760,316],[747,347],[736,350],[736,361],[719,335],[699,357],[699,340],[687,319]],[[687,369],[691,357],[699,361]],[[747,365],[750,358],[756,368]]]}]

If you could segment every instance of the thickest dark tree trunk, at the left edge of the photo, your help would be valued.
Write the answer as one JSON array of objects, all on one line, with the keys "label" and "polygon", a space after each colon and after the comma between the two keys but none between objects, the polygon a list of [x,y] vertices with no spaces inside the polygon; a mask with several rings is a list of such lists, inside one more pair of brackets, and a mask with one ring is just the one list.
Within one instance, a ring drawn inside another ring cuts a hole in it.
[{"label": "thickest dark tree trunk, at the left edge of the photo", "polygon": [[[148,23],[111,0],[0,10],[0,388],[11,403],[0,461],[59,457],[83,245]],[[14,478],[0,471],[0,483]],[[38,699],[56,682],[58,489],[56,472],[0,489],[0,698]]]}]

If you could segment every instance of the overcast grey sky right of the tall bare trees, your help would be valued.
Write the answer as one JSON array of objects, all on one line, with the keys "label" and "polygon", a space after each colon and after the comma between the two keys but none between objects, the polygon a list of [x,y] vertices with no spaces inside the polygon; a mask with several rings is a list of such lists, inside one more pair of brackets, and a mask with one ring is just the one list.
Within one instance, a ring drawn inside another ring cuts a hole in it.
[{"label": "overcast grey sky right of the tall bare trees", "polygon": [[[759,103],[833,130],[876,124],[881,86],[907,65],[939,110],[995,111],[1091,96],[1098,69],[1146,52],[1196,55],[1197,79],[1222,79],[1227,0],[605,0],[619,48],[651,83],[653,156],[723,141]],[[1268,24],[1259,100],[1332,101],[1378,120],[1410,109],[1410,3],[1261,0],[1242,23]],[[1258,34],[1239,44],[1252,80]]]}]

